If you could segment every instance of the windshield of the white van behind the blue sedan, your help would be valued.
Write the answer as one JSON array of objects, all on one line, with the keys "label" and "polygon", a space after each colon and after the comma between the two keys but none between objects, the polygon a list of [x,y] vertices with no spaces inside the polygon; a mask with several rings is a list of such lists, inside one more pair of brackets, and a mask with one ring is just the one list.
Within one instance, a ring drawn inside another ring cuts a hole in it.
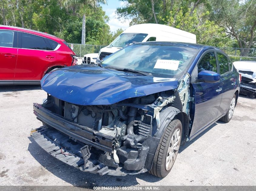
[{"label": "windshield of the white van behind the blue sedan", "polygon": [[144,33],[122,33],[110,46],[125,47],[130,44],[140,43],[148,34]]}]

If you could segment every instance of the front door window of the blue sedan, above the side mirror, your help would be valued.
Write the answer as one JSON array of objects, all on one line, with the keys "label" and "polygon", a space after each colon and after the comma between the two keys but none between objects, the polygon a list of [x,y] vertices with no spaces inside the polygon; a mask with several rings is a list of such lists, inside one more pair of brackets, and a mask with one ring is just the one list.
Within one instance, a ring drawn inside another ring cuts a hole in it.
[{"label": "front door window of the blue sedan, above the side mirror", "polygon": [[217,62],[214,51],[206,53],[201,61],[198,63],[198,73],[203,70],[213,71],[217,73]]}]

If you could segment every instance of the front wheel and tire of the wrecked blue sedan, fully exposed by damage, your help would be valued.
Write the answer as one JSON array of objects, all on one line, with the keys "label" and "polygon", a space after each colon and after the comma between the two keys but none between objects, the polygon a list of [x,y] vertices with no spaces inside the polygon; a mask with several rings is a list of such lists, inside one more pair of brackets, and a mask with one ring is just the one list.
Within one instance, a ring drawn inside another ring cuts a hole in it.
[{"label": "front wheel and tire of the wrecked blue sedan, fully exposed by damage", "polygon": [[160,178],[168,175],[181,145],[181,135],[181,121],[178,119],[171,121],[160,139],[149,173]]}]

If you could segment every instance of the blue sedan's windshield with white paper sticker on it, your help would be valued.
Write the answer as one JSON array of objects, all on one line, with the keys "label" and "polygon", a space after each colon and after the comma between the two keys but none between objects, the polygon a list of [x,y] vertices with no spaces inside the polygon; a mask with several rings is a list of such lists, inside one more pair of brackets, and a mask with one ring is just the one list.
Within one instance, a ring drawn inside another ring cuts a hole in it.
[{"label": "blue sedan's windshield with white paper sticker on it", "polygon": [[181,78],[198,51],[199,49],[163,43],[139,43],[110,55],[101,65],[147,72],[161,78]]}]

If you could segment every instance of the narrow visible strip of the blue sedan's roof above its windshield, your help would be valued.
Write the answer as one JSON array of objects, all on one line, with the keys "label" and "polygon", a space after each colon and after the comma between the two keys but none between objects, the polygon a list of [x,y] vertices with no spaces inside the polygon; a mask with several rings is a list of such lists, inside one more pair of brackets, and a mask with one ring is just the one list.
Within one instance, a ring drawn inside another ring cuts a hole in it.
[{"label": "narrow visible strip of the blue sedan's roof above its windshield", "polygon": [[[159,42],[159,41],[150,41],[150,42],[144,42],[144,43],[136,43],[136,44],[152,44],[152,45],[169,45],[169,46],[182,46],[182,47],[188,47],[188,48],[194,48],[194,49],[203,49],[203,48],[211,48],[220,50],[214,46],[207,46],[203,44],[195,44],[195,43],[181,43],[181,42]],[[221,50],[220,50],[221,51]],[[222,52],[222,51],[221,51]]]}]

